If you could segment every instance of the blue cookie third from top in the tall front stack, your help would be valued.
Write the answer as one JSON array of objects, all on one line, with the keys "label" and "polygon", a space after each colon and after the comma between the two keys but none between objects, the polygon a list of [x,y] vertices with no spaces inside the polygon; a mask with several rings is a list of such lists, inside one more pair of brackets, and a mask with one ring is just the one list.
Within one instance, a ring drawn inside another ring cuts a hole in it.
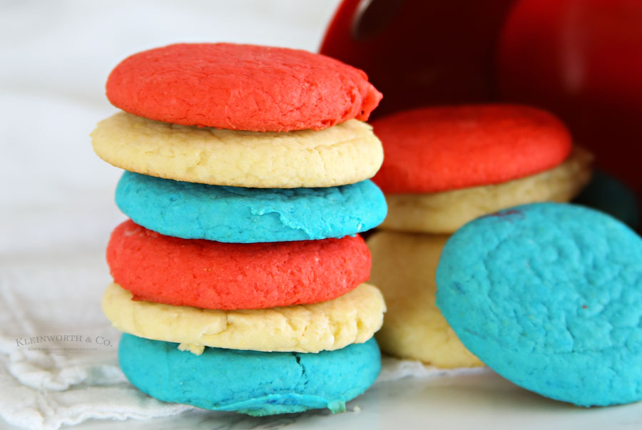
[{"label": "blue cookie third from top in the tall front stack", "polygon": [[370,180],[330,188],[242,188],[125,172],[116,205],[163,235],[218,242],[285,242],[344,237],[379,225],[383,193]]}]

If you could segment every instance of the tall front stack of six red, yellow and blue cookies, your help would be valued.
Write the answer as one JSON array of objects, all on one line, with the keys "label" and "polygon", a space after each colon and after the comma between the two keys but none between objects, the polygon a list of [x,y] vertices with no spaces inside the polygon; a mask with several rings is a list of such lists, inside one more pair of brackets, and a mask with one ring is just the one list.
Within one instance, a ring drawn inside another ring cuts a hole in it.
[{"label": "tall front stack of six red, yellow and blue cookies", "polygon": [[385,305],[357,234],[386,215],[368,178],[365,73],[306,51],[176,44],[126,58],[92,133],[127,170],[103,312],[123,372],[164,401],[251,415],[345,410],[381,367]]}]

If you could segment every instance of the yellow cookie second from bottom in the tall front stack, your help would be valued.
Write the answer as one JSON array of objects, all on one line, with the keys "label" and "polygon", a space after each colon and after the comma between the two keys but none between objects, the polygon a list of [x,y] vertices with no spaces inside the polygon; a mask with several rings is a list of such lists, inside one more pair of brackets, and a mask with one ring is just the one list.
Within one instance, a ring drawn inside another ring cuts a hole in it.
[{"label": "yellow cookie second from bottom in the tall front stack", "polygon": [[138,337],[176,342],[201,354],[204,347],[253,351],[320,352],[366,342],[383,322],[377,288],[362,284],[327,302],[252,310],[213,310],[136,302],[117,284],[103,295],[113,327]]}]

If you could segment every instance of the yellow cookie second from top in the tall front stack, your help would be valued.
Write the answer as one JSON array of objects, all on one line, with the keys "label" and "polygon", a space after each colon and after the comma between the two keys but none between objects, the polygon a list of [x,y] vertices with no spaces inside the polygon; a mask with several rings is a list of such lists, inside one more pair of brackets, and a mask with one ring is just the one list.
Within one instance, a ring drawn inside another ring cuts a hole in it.
[{"label": "yellow cookie second from top in the tall front stack", "polygon": [[111,165],[210,185],[314,188],[372,178],[383,160],[372,127],[356,120],[289,133],[175,126],[121,112],[91,133]]}]

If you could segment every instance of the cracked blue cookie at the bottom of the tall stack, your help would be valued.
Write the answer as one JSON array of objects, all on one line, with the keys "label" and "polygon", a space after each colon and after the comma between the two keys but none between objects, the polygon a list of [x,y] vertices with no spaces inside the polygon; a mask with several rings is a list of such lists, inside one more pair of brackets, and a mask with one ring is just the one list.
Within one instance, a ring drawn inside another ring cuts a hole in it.
[{"label": "cracked blue cookie at the bottom of the tall stack", "polygon": [[307,409],[345,411],[381,369],[374,338],[318,354],[205,348],[123,334],[121,368],[138,389],[163,401],[263,416]]}]

